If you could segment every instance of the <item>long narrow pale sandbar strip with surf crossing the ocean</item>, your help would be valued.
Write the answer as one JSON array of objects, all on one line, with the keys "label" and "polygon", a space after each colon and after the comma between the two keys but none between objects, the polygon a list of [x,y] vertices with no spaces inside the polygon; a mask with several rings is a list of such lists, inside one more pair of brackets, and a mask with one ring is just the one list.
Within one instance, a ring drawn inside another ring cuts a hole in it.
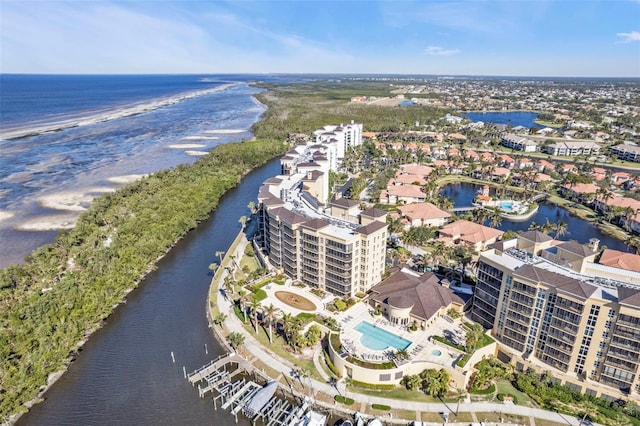
[{"label": "long narrow pale sandbar strip with surf crossing the ocean", "polygon": [[61,130],[70,129],[73,127],[90,126],[92,124],[103,123],[106,121],[117,120],[119,118],[130,117],[134,115],[144,114],[163,108],[169,105],[174,105],[188,99],[193,99],[198,96],[209,95],[211,93],[222,92],[232,87],[239,86],[240,83],[228,83],[221,86],[217,86],[210,89],[196,90],[187,93],[181,93],[178,95],[158,98],[151,101],[145,101],[142,103],[136,103],[127,106],[120,106],[117,109],[93,111],[86,116],[73,116],[65,119],[58,119],[53,122],[43,122],[34,125],[31,123],[29,127],[19,127],[13,129],[2,129],[0,133],[0,140],[12,140],[28,138],[37,136],[43,133],[59,132]]}]

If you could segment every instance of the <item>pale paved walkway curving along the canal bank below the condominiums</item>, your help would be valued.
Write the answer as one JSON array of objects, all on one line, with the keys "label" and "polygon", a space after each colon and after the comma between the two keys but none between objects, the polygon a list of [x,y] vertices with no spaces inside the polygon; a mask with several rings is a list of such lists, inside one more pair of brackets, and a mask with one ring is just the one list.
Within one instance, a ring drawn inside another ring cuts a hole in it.
[{"label": "pale paved walkway curving along the canal bank below the condominiums", "polygon": [[[231,254],[235,254],[236,259],[240,259],[240,257],[242,256],[242,253],[244,253],[244,249],[247,246],[247,244],[249,244],[249,242],[247,241],[246,237],[243,234],[241,240],[239,241],[239,243],[233,250],[233,253]],[[223,271],[223,273],[224,272],[226,271]],[[223,279],[222,279],[223,277],[224,275],[222,275],[222,277],[218,279],[218,282],[223,282]],[[217,293],[217,305],[220,311],[221,312],[227,311],[227,318],[224,321],[224,328],[230,333],[238,332],[238,333],[242,333],[245,336],[244,349],[249,354],[251,354],[251,356],[259,359],[263,363],[267,364],[270,368],[278,371],[280,374],[286,377],[291,377],[291,373],[297,369],[297,366],[294,364],[291,364],[287,360],[283,360],[279,358],[278,356],[273,354],[271,351],[269,351],[267,348],[265,348],[262,344],[260,344],[260,342],[258,342],[258,340],[255,338],[253,333],[250,333],[245,330],[245,328],[242,325],[242,322],[233,312],[232,301],[225,299],[223,292],[217,291],[216,293]],[[224,307],[226,307],[226,309]],[[321,354],[322,354],[322,350],[317,349],[313,355],[314,357],[313,362],[319,374],[326,381],[320,382],[317,380],[311,380],[310,381],[311,386],[313,390],[316,392],[319,391],[329,396],[337,395],[338,392],[336,388],[328,383],[329,377],[325,373],[322,366],[319,365],[318,357]],[[406,401],[406,400],[398,401],[396,399],[389,399],[389,398],[383,398],[383,397],[372,396],[372,395],[363,395],[355,392],[349,392],[348,396],[349,398],[353,398],[356,402],[358,402],[357,404],[354,405],[357,408],[360,408],[363,404],[365,406],[371,406],[372,404],[382,404],[382,405],[391,406],[393,408],[401,408],[403,410],[410,410],[410,411],[416,411],[416,412],[454,413],[456,410],[455,406],[449,405],[447,403],[427,403],[427,402]],[[326,404],[320,401],[318,401],[318,404],[329,409],[337,408],[335,406],[332,406],[331,404]],[[550,420],[550,421],[554,421],[554,422],[558,422],[566,425],[572,425],[572,426],[579,426],[579,423],[580,423],[580,420],[575,417],[559,414],[556,412],[546,411],[539,408],[525,407],[522,405],[502,404],[502,403],[495,403],[495,402],[462,402],[460,403],[459,410],[460,412],[470,412],[474,420],[477,419],[479,421],[483,421],[483,419],[481,416],[478,417],[476,413],[514,414],[518,416]],[[343,411],[352,413],[353,409],[344,408]],[[402,420],[402,419],[385,418],[385,422],[386,423],[391,422],[395,424],[407,424],[407,420]],[[529,419],[527,419],[527,423],[529,423]],[[433,424],[441,424],[441,423],[433,423]],[[493,423],[485,423],[485,424],[493,425]],[[507,424],[503,423],[501,425],[507,425]]]}]

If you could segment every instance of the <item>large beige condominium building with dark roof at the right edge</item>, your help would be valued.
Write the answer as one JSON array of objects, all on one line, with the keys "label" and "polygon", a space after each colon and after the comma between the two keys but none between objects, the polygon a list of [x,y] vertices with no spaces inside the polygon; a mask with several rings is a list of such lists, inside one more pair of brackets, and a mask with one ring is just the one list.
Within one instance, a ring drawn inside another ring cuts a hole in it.
[{"label": "large beige condominium building with dark roof at the right edge", "polygon": [[481,253],[471,317],[519,370],[609,399],[640,398],[640,273],[539,231]]}]

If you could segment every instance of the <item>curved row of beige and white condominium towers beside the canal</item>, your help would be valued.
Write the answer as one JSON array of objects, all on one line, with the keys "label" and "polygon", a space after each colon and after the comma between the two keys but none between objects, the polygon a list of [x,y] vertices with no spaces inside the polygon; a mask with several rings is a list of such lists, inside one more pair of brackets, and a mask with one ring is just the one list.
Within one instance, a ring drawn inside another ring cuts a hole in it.
[{"label": "curved row of beige and white condominium towers beside the canal", "polygon": [[328,173],[340,163],[326,159],[341,159],[359,145],[361,126],[327,126],[314,142],[297,145],[281,159],[282,175],[265,181],[258,194],[258,242],[269,264],[342,297],[369,291],[385,268],[386,212],[361,210],[339,193],[329,199]]}]

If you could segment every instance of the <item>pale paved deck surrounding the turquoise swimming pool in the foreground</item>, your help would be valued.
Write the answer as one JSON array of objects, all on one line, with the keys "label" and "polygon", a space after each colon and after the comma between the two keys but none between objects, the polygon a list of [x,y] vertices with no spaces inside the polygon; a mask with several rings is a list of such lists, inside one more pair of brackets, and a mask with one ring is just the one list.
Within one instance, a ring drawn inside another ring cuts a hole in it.
[{"label": "pale paved deck surrounding the turquoise swimming pool in the foreground", "polygon": [[[373,350],[364,346],[360,338],[362,333],[355,330],[355,327],[362,321],[367,321],[391,334],[400,336],[411,342],[407,347],[410,361],[427,361],[443,366],[451,367],[454,365],[458,354],[454,351],[447,351],[442,346],[436,346],[429,341],[430,336],[443,336],[445,333],[452,333],[456,339],[464,342],[464,332],[458,324],[452,324],[444,318],[438,318],[431,324],[427,330],[409,331],[408,329],[399,328],[387,321],[382,315],[372,315],[371,307],[366,303],[357,303],[351,309],[341,313],[338,316],[338,325],[342,328],[340,332],[340,340],[343,347],[353,356],[365,361],[384,362],[392,359],[395,348],[387,348],[384,350]],[[436,356],[432,353],[439,350],[442,355]]]}]

